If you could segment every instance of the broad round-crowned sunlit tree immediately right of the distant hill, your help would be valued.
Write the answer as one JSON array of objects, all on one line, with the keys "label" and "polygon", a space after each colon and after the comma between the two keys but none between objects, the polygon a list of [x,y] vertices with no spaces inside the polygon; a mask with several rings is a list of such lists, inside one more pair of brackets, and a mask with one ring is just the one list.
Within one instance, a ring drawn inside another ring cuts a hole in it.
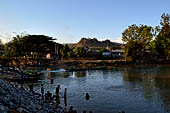
[{"label": "broad round-crowned sunlit tree immediately right of the distant hill", "polygon": [[154,29],[151,26],[135,24],[129,26],[122,33],[122,40],[125,42],[125,57],[132,60],[146,56],[149,43],[153,39]]}]

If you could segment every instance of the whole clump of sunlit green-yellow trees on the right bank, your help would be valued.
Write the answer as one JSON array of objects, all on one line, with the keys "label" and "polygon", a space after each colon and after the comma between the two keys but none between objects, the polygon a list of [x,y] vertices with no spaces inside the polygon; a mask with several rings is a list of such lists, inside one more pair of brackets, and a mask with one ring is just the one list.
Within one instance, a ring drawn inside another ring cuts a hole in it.
[{"label": "whole clump of sunlit green-yellow trees on the right bank", "polygon": [[125,57],[131,60],[151,59],[155,56],[170,59],[170,15],[161,16],[161,28],[131,25],[122,33]]}]

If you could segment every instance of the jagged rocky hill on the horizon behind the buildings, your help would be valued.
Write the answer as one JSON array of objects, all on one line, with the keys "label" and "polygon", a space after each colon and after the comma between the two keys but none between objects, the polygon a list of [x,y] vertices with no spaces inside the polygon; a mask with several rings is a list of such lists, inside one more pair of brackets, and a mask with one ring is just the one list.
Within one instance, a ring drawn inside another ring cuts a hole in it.
[{"label": "jagged rocky hill on the horizon behind the buildings", "polygon": [[89,47],[89,48],[103,48],[103,47],[120,47],[121,43],[111,42],[110,40],[98,41],[96,38],[82,38],[74,47]]}]

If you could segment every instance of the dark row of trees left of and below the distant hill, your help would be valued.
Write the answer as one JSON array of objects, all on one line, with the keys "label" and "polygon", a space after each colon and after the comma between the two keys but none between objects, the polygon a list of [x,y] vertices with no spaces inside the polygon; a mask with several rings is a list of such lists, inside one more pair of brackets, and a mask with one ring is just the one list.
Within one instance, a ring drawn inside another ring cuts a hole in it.
[{"label": "dark row of trees left of and below the distant hill", "polygon": [[[50,54],[52,58],[99,58],[102,56],[102,52],[108,51],[105,48],[97,48],[98,53],[94,56],[88,50],[88,47],[69,47],[68,44],[59,44],[55,42],[56,39],[45,35],[17,35],[13,37],[8,43],[3,45],[4,50],[2,58],[32,58],[42,59],[47,54]],[[96,48],[91,48],[96,50]]]}]

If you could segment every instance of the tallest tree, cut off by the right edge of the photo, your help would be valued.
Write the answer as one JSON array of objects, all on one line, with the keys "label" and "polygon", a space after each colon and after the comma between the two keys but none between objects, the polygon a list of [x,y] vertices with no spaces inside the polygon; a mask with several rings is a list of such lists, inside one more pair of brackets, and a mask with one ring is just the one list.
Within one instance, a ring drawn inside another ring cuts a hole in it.
[{"label": "tallest tree, cut off by the right edge of the photo", "polygon": [[156,48],[161,56],[170,59],[170,15],[163,13],[161,16],[161,29],[156,37]]}]

